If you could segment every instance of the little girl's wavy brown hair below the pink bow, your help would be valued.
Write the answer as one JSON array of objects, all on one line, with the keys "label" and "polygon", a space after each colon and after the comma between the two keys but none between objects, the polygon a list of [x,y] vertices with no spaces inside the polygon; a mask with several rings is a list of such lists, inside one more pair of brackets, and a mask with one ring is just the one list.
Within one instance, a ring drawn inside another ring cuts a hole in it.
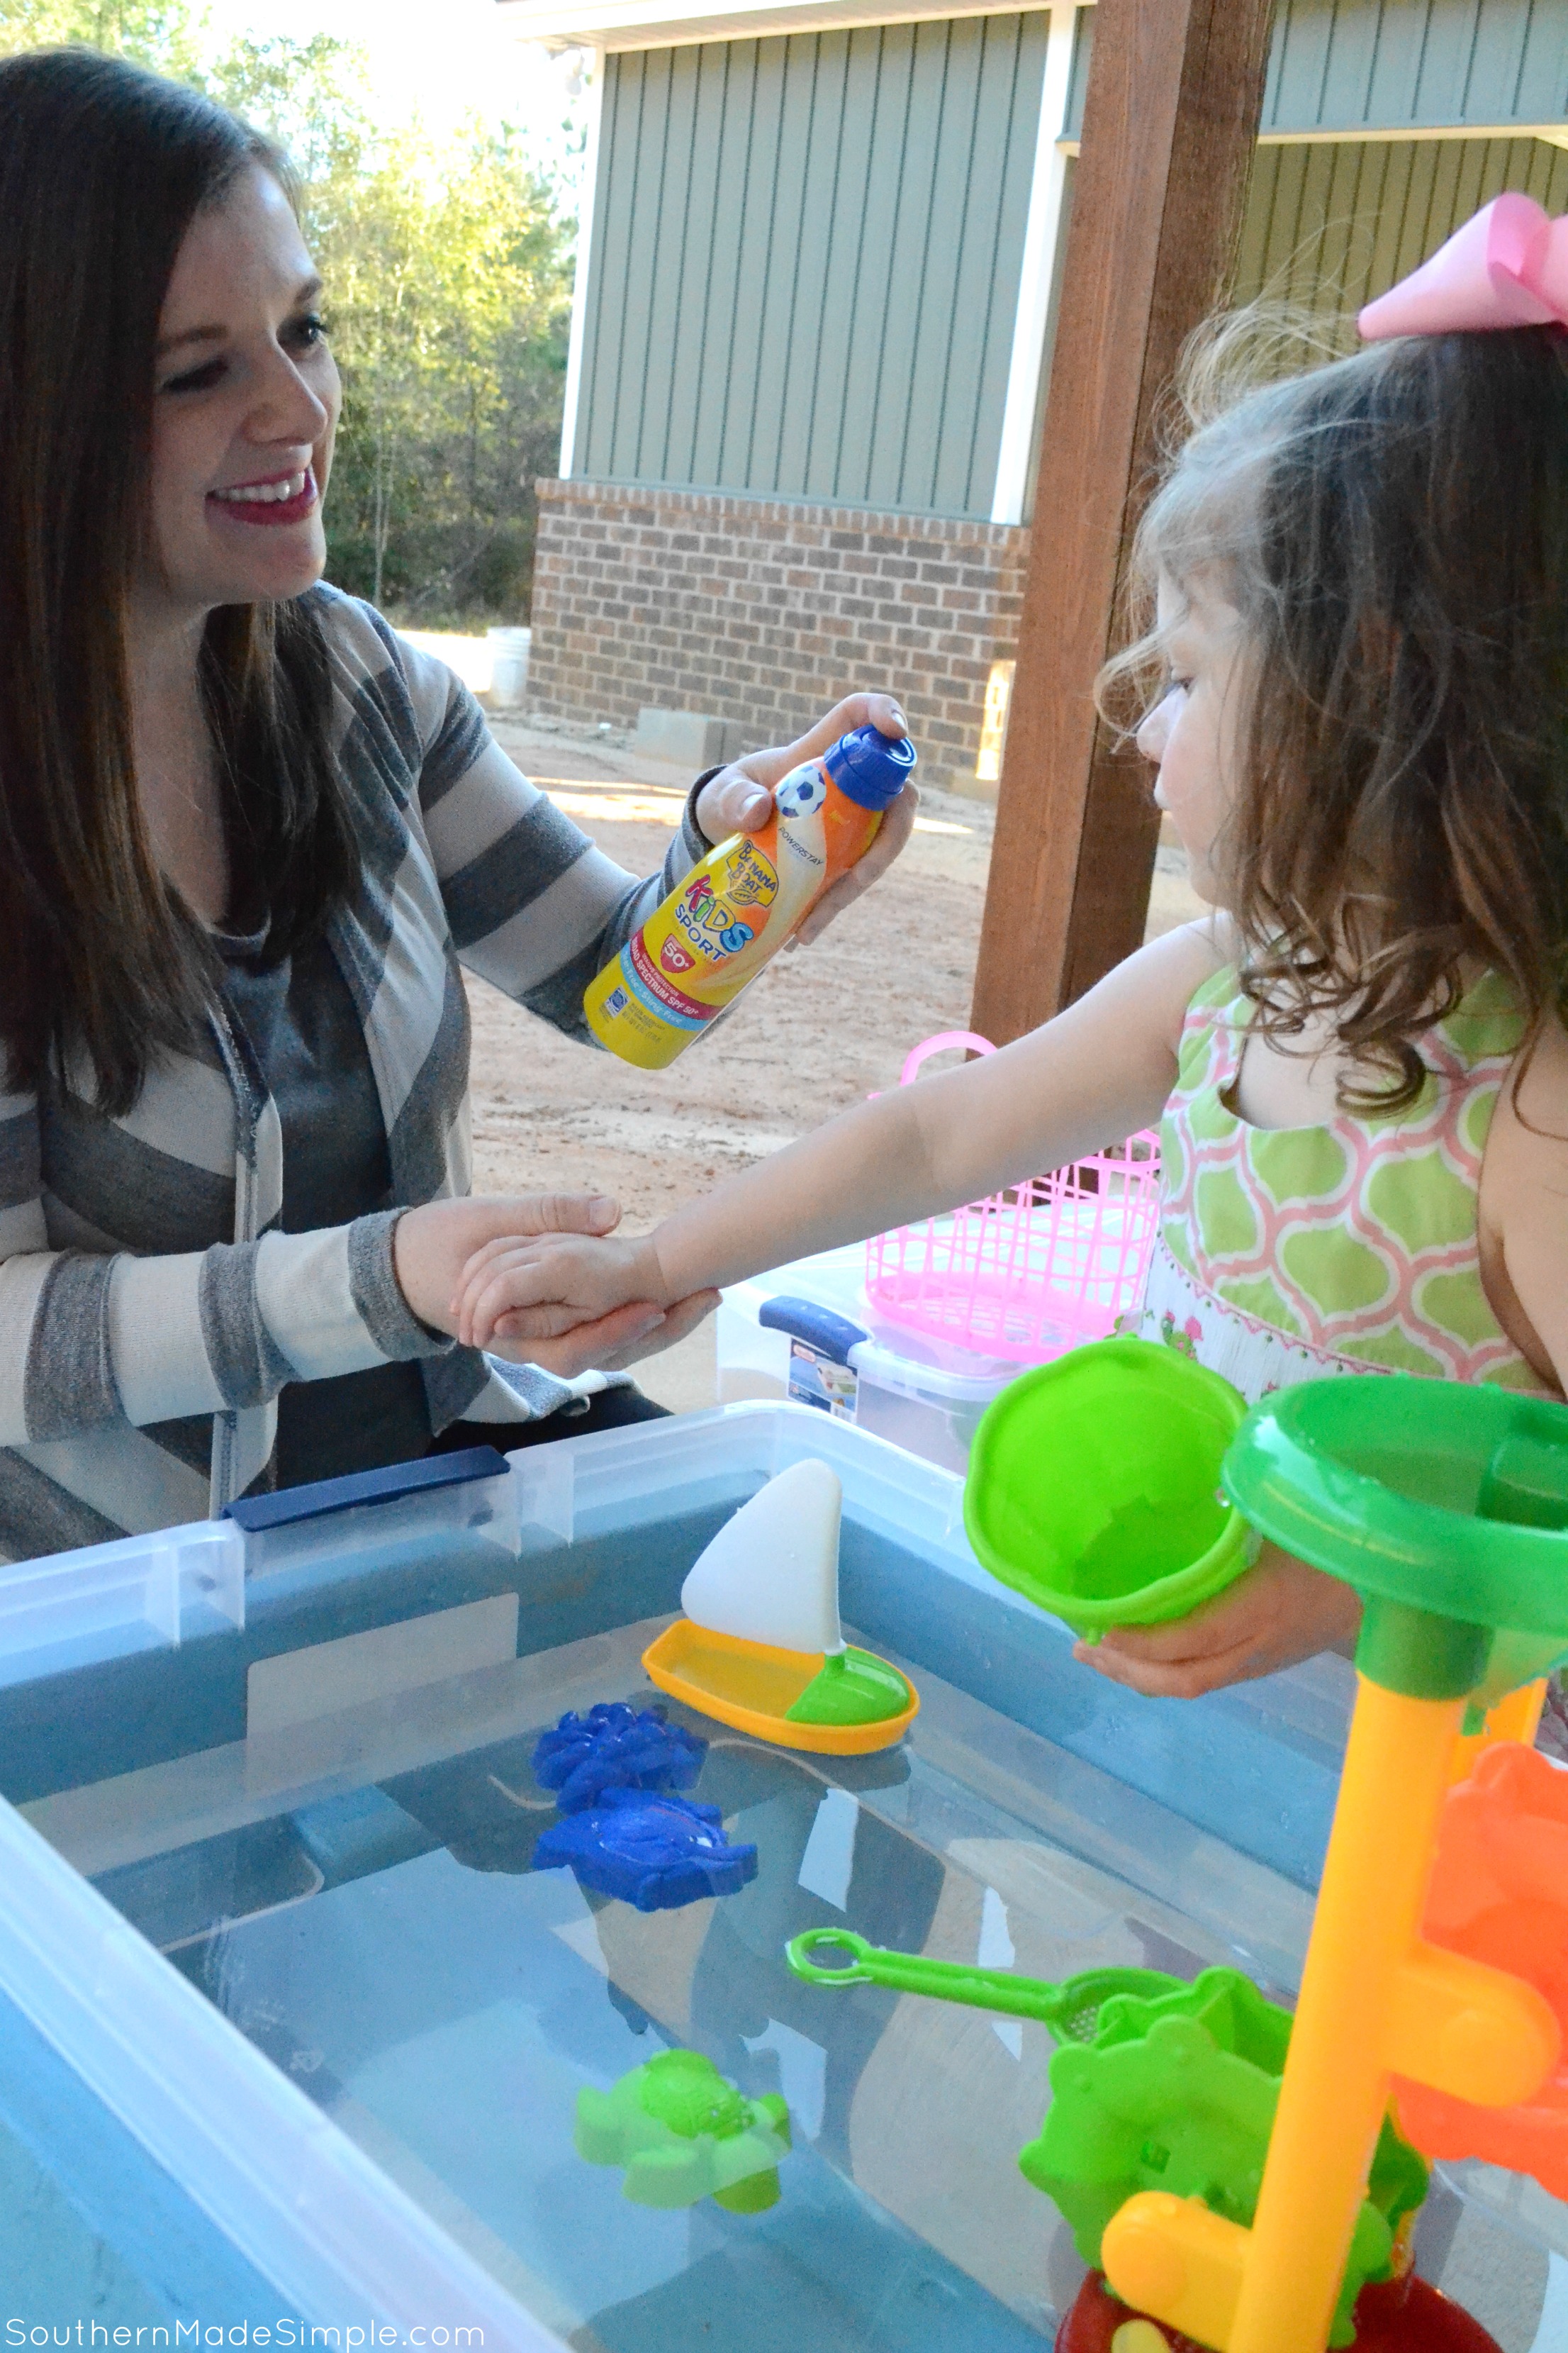
[{"label": "little girl's wavy brown hair below the pink bow", "polygon": [[[1328,1016],[1406,1108],[1467,969],[1533,1028],[1568,981],[1568,372],[1556,327],[1410,336],[1241,391],[1248,322],[1187,365],[1197,426],[1138,579],[1241,614],[1218,845],[1258,1026]],[[1107,671],[1140,680],[1159,631]]]}]

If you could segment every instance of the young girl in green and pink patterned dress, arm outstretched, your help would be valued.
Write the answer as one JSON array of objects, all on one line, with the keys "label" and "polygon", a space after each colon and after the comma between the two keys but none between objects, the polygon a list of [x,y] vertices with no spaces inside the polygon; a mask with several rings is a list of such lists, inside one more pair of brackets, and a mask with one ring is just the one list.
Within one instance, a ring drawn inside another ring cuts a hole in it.
[{"label": "young girl in green and pink patterned dress, arm outstretched", "polygon": [[[1004,1052],[893,1089],[642,1240],[480,1252],[463,1339],[682,1299],[1164,1120],[1143,1327],[1258,1398],[1568,1372],[1568,341],[1436,332],[1225,391],[1138,539],[1138,727],[1213,913]],[[1091,1657],[1192,1694],[1354,1638],[1267,1551],[1180,1626]]]}]

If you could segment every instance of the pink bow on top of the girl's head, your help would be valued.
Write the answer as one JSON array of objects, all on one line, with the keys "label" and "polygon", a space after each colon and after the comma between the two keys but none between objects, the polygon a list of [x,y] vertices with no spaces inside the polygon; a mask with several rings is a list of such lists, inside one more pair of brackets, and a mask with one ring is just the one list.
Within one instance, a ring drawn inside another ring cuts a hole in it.
[{"label": "pink bow on top of the girl's head", "polygon": [[1568,214],[1533,195],[1495,195],[1429,261],[1368,301],[1361,339],[1450,334],[1455,327],[1568,327]]}]

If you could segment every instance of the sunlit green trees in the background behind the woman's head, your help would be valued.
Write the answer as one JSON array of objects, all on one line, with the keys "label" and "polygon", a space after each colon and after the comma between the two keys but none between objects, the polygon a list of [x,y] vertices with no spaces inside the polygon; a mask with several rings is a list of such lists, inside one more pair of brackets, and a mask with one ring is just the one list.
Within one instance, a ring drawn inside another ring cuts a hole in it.
[{"label": "sunlit green trees in the background behind the woman's head", "polygon": [[477,118],[444,144],[388,134],[353,42],[247,35],[207,56],[186,0],[7,0],[0,52],[56,40],[205,87],[287,148],[343,372],[329,579],[421,619],[527,614],[571,224],[522,139]]}]

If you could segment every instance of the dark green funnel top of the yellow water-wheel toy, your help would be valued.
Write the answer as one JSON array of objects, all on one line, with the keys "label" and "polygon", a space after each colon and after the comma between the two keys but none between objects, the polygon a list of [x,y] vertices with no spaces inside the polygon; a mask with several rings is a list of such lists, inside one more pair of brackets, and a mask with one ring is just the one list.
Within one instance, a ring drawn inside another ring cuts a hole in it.
[{"label": "dark green funnel top of the yellow water-wheel toy", "polygon": [[1568,1652],[1568,1407],[1307,1381],[1253,1407],[1222,1475],[1253,1527],[1363,1595],[1373,1682],[1490,1706]]}]

